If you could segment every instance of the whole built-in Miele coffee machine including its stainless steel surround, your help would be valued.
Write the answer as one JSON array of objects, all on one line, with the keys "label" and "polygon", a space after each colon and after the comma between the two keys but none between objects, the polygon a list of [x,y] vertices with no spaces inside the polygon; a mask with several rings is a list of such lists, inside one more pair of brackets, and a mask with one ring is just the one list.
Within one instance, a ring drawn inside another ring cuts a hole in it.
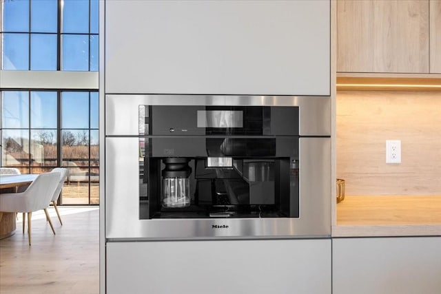
[{"label": "whole built-in Miele coffee machine including its stainless steel surround", "polygon": [[107,94],[107,240],[331,233],[329,96]]}]

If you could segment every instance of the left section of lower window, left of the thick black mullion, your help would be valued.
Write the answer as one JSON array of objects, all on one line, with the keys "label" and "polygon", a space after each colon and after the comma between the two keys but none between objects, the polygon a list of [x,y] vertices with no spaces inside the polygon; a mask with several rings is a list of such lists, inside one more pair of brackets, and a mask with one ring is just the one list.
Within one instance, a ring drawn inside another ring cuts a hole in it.
[{"label": "left section of lower window, left of the thick black mullion", "polygon": [[1,93],[3,165],[25,174],[57,167],[57,92]]}]

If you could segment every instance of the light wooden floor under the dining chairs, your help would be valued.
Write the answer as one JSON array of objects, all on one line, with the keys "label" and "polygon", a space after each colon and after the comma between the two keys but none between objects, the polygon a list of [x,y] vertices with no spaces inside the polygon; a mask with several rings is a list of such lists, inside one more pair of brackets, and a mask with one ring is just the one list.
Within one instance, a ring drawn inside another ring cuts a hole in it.
[{"label": "light wooden floor under the dining chairs", "polygon": [[1,294],[99,293],[99,209],[59,207],[63,226],[50,207],[57,235],[41,213],[32,213],[32,245],[17,231],[0,240]]}]

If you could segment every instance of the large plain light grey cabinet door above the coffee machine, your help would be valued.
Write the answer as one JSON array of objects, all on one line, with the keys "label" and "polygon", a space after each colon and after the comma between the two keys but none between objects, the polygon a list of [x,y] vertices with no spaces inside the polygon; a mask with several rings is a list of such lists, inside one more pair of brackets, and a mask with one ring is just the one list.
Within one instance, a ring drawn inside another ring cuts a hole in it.
[{"label": "large plain light grey cabinet door above the coffee machine", "polygon": [[327,96],[329,75],[329,0],[105,3],[107,94]]}]

